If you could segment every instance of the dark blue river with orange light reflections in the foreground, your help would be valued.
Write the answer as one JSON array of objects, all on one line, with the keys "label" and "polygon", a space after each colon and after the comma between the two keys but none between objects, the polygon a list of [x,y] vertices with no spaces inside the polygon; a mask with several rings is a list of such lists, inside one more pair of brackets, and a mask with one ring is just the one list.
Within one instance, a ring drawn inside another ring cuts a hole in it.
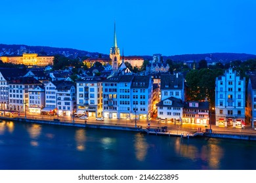
[{"label": "dark blue river with orange light reflections in the foreground", "polygon": [[255,169],[254,141],[0,123],[0,169]]}]

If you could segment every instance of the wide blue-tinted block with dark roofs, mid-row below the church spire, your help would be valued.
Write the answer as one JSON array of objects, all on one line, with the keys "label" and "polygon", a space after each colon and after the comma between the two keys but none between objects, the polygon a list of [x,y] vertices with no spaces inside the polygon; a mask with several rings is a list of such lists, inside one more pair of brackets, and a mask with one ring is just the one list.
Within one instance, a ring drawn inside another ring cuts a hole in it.
[{"label": "wide blue-tinted block with dark roofs, mid-row below the church spire", "polygon": [[112,76],[103,82],[104,118],[146,120],[153,114],[150,76]]}]

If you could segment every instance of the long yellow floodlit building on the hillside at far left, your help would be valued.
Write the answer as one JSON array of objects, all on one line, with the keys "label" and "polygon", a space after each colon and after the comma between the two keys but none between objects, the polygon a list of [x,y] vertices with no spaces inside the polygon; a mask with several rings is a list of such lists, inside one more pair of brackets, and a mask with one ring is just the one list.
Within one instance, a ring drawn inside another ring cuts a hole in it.
[{"label": "long yellow floodlit building on the hillside at far left", "polygon": [[37,54],[22,54],[22,56],[1,56],[3,63],[47,66],[53,65],[54,56],[38,56]]}]

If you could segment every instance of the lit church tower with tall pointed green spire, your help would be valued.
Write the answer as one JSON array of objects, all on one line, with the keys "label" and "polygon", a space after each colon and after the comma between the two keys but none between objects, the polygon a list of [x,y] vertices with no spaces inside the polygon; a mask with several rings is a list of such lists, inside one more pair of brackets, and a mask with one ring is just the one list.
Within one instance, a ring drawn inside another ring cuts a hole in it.
[{"label": "lit church tower with tall pointed green spire", "polygon": [[120,63],[120,51],[117,47],[116,41],[116,22],[114,23],[114,45],[110,48],[110,59],[112,60],[112,70],[118,71],[118,65]]}]

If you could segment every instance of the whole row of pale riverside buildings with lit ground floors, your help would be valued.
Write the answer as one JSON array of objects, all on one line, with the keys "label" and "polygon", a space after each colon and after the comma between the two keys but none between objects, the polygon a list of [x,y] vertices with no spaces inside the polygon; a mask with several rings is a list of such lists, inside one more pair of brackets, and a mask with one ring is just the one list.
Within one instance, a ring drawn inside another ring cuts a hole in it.
[{"label": "whole row of pale riverside buildings with lit ground floors", "polygon": [[[164,122],[209,124],[209,102],[186,101],[181,74],[86,76],[76,82],[43,84],[27,73],[22,69],[0,69],[2,115],[24,112],[26,108],[27,112],[39,114],[71,116],[78,112],[95,117],[150,120],[156,113]],[[233,69],[217,77],[215,84],[215,124],[254,125],[256,76],[249,77],[247,99],[245,78]]]}]

